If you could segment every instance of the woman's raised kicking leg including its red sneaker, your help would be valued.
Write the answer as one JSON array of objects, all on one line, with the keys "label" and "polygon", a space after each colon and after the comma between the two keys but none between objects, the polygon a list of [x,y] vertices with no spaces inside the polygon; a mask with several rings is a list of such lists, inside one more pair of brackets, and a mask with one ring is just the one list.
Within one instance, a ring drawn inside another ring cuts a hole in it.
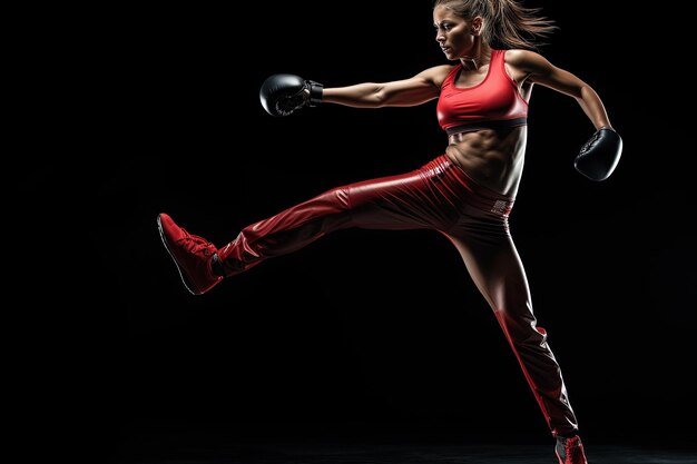
[{"label": "woman's raised kicking leg including its red sneaker", "polygon": [[459,213],[440,187],[440,178],[449,166],[444,158],[439,158],[411,172],[327,190],[245,227],[220,249],[189,234],[166,214],[158,216],[159,230],[184,284],[190,293],[200,295],[223,276],[248,270],[267,258],[295,251],[342,228],[450,226]]}]

